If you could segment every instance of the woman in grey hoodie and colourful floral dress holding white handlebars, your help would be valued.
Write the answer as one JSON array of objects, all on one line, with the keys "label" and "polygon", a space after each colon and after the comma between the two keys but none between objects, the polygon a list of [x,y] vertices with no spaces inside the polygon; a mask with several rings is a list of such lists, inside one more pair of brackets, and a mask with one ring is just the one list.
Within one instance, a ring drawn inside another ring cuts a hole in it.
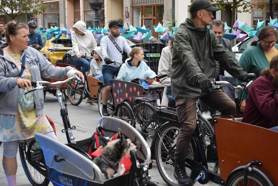
[{"label": "woman in grey hoodie and colourful floral dress holding white handlebars", "polygon": [[[43,112],[43,90],[25,95],[31,88],[30,81],[40,81],[41,76],[61,80],[73,68],[55,67],[38,50],[28,47],[24,23],[10,21],[6,39],[8,44],[0,46],[0,141],[3,142],[3,168],[9,185],[14,186],[19,140],[33,138],[36,132],[57,140]],[[76,69],[75,72],[84,82],[83,74]]]}]

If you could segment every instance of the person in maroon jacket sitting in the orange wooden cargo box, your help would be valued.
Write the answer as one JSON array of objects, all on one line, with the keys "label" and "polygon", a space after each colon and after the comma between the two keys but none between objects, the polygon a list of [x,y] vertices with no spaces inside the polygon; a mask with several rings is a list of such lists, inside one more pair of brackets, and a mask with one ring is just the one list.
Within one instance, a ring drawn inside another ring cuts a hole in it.
[{"label": "person in maroon jacket sitting in the orange wooden cargo box", "polygon": [[272,58],[269,68],[262,70],[260,77],[249,86],[242,122],[278,132],[277,91],[278,55]]}]

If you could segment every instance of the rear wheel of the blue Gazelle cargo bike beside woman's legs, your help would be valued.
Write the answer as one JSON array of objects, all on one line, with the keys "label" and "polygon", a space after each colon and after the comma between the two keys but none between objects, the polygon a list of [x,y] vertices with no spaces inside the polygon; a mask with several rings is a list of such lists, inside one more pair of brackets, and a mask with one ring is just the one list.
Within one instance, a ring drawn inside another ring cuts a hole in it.
[{"label": "rear wheel of the blue Gazelle cargo bike beside woman's legs", "polygon": [[[24,172],[30,181],[30,183],[34,186],[47,186],[49,184],[49,179],[44,177],[37,169],[35,169],[31,164],[38,165],[37,168],[40,168],[45,174],[48,174],[47,169],[44,164],[43,157],[41,160],[32,161],[31,153],[41,151],[38,149],[36,140],[19,143],[19,156],[22,163],[22,167]],[[31,162],[31,164],[30,164]]]}]

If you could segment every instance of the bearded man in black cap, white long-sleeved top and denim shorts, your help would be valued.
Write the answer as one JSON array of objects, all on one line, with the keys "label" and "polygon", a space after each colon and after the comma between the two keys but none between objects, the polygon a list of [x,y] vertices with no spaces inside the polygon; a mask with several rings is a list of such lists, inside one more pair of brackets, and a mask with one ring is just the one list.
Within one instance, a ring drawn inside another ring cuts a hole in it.
[{"label": "bearded man in black cap, white long-sleeved top and denim shorts", "polygon": [[115,74],[118,74],[121,67],[121,64],[109,64],[113,63],[112,60],[123,63],[123,50],[125,50],[127,54],[131,52],[131,48],[125,38],[120,36],[120,26],[122,25],[118,21],[111,21],[108,25],[110,35],[104,36],[100,41],[101,53],[105,62],[102,66],[105,87],[102,92],[103,107],[101,111],[103,116],[109,116],[107,112],[107,101],[110,97],[110,80],[113,79]]}]

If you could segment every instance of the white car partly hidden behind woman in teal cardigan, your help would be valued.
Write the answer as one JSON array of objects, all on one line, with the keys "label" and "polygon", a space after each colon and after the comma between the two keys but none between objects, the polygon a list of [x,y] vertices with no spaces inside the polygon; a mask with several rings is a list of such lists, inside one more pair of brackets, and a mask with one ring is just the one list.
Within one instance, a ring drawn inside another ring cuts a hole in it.
[{"label": "white car partly hidden behind woman in teal cardigan", "polygon": [[[232,50],[235,53],[235,58],[239,61],[240,56],[242,55],[244,50],[249,48],[253,41],[257,41],[257,40],[258,38],[256,36],[248,37],[244,39],[244,42],[240,42],[236,46],[232,47]],[[225,71],[225,76],[231,76],[231,75]]]}]

